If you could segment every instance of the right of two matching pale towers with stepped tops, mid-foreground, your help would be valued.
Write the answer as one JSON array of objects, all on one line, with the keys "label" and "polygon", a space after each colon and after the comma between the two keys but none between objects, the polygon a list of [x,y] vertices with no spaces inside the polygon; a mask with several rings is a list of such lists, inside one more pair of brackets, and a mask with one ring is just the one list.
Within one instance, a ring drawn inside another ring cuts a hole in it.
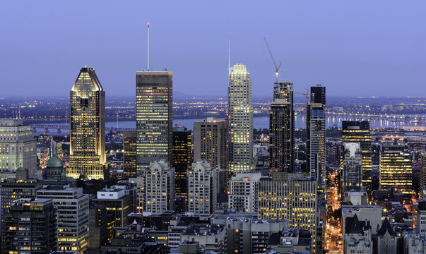
[{"label": "right of two matching pale towers with stepped tops, mid-foreground", "polygon": [[214,214],[217,202],[218,170],[201,160],[187,170],[188,212]]}]

